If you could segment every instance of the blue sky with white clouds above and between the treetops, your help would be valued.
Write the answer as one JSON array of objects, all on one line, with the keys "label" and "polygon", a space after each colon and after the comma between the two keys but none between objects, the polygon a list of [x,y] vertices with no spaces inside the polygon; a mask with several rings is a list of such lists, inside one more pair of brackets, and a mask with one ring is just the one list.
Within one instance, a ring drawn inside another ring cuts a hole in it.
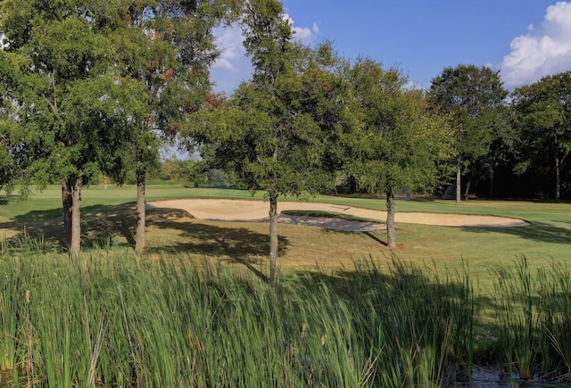
[{"label": "blue sky with white clouds above and between the treetops", "polygon": [[[446,67],[499,70],[504,87],[571,70],[571,2],[549,0],[283,0],[294,38],[333,41],[345,58],[397,67],[430,87]],[[218,29],[222,54],[211,68],[216,91],[231,95],[250,78],[237,27]]]}]

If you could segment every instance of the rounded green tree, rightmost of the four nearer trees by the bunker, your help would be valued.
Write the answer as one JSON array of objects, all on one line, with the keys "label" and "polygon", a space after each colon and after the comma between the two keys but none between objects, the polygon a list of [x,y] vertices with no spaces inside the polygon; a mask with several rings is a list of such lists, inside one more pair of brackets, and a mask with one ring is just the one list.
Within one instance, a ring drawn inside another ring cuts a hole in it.
[{"label": "rounded green tree, rightmost of the four nearer trees by the bunker", "polygon": [[394,193],[434,185],[438,163],[451,152],[449,131],[428,113],[420,91],[407,90],[396,69],[360,58],[349,71],[360,126],[347,136],[344,171],[369,193],[385,194],[387,245],[396,246]]}]

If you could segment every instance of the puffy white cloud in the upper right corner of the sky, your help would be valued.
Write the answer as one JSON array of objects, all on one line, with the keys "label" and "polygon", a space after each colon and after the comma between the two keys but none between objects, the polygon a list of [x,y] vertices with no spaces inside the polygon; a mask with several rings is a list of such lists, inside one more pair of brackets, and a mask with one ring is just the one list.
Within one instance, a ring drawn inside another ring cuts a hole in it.
[{"label": "puffy white cloud in the upper right corner of the sky", "polygon": [[501,62],[501,78],[507,87],[534,83],[542,77],[571,70],[571,3],[550,5],[539,26],[509,45]]}]

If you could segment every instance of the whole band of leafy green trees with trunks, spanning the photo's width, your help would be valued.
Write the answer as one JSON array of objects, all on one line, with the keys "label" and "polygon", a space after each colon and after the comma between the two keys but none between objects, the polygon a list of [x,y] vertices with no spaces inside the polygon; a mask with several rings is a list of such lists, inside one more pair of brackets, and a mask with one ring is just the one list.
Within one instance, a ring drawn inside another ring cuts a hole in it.
[{"label": "whole band of leafy green trees with trunks, spanning the photo's width", "polygon": [[[209,67],[230,22],[253,74],[226,96]],[[509,93],[498,71],[459,65],[416,90],[399,69],[300,44],[277,0],[11,0],[0,31],[0,185],[25,198],[61,184],[71,253],[81,187],[102,176],[137,185],[139,252],[147,175],[265,192],[274,281],[278,198],[334,193],[340,177],[383,196],[391,247],[401,192],[571,198],[571,71]],[[175,137],[202,161],[160,162]]]}]

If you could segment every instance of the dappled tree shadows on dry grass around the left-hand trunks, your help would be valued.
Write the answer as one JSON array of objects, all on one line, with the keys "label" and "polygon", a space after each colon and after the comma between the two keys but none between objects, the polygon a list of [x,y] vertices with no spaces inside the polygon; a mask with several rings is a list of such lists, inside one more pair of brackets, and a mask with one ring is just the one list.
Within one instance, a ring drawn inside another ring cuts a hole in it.
[{"label": "dappled tree shadows on dry grass around the left-hand trunks", "polygon": [[[16,232],[9,243],[12,247],[30,239],[41,240],[47,251],[62,250],[62,210],[30,211],[13,222],[0,223],[0,229]],[[135,246],[137,224],[133,203],[116,206],[88,206],[81,208],[83,249],[114,246]],[[146,210],[146,227],[160,229],[165,237],[160,245],[151,246],[148,253],[180,253],[224,257],[231,263],[242,264],[258,277],[265,278],[254,265],[269,256],[269,235],[247,227],[219,227],[193,221],[186,211],[154,208]],[[175,236],[172,238],[172,236]],[[124,241],[118,237],[124,237]],[[279,255],[284,255],[289,242],[279,235]]]}]

